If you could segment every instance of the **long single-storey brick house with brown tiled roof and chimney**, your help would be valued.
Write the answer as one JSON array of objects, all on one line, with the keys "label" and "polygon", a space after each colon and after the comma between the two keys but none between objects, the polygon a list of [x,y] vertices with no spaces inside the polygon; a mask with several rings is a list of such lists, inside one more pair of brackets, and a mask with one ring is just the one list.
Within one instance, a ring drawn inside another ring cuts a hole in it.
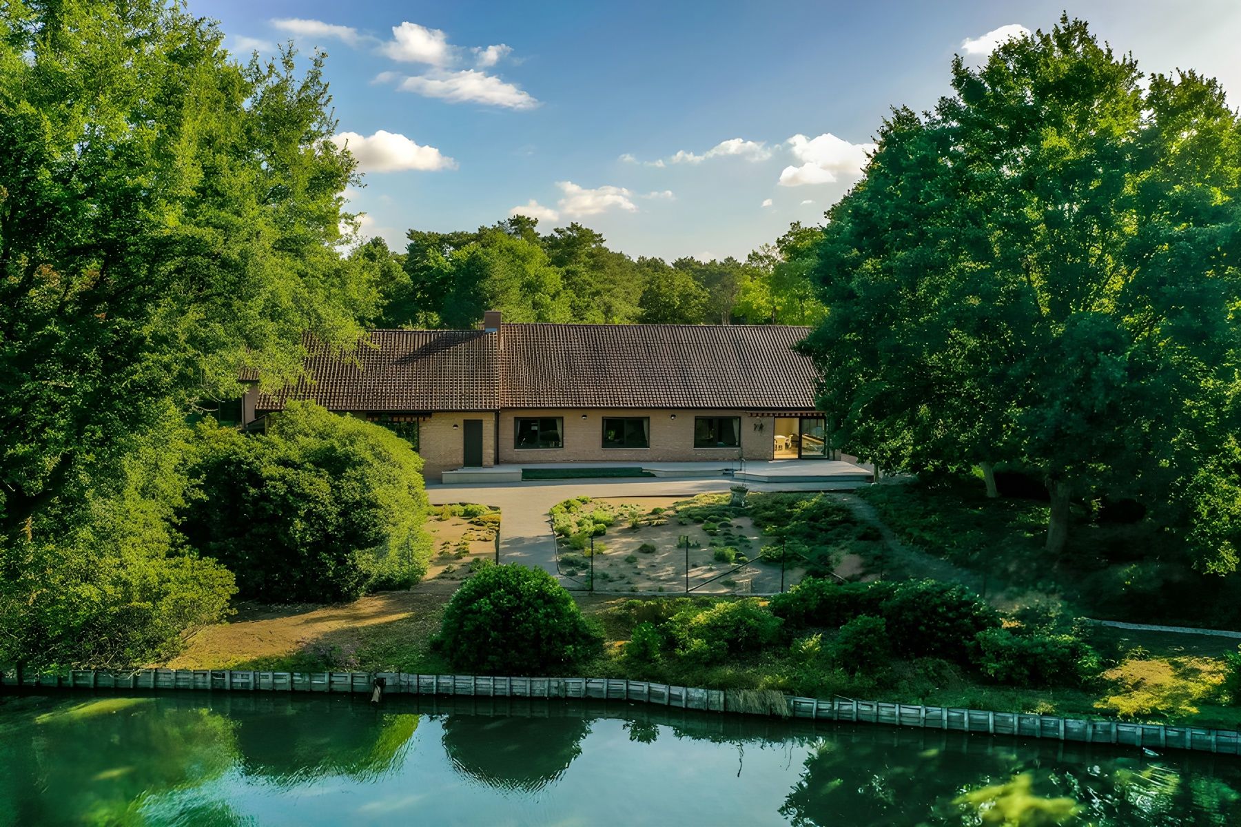
[{"label": "long single-storey brick house with brown tiled roof and chimney", "polygon": [[289,400],[383,423],[428,478],[535,463],[839,459],[815,411],[808,328],[506,324],[372,330],[343,359],[311,348],[307,379],[252,386],[243,425]]}]

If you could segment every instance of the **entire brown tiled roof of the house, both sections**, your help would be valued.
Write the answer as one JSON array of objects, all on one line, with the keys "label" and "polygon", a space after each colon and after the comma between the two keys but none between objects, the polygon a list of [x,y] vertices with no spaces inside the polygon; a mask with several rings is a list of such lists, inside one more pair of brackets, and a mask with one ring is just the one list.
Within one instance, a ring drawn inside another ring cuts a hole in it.
[{"label": "entire brown tiled roof of the house, both sections", "polygon": [[792,350],[809,328],[688,324],[503,324],[374,330],[343,359],[310,345],[311,380],[262,394],[278,410],[313,399],[336,411],[501,407],[814,409],[815,373]]}]

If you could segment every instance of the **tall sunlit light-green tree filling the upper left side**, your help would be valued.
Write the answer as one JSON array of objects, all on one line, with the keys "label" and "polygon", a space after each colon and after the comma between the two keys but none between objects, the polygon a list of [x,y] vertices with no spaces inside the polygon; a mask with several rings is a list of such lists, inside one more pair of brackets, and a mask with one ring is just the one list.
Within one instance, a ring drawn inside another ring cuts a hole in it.
[{"label": "tall sunlit light-green tree filling the upper left side", "polygon": [[163,0],[0,10],[0,541],[52,530],[160,401],[289,376],[303,332],[375,308],[333,247],[354,160],[323,55],[221,40]]}]

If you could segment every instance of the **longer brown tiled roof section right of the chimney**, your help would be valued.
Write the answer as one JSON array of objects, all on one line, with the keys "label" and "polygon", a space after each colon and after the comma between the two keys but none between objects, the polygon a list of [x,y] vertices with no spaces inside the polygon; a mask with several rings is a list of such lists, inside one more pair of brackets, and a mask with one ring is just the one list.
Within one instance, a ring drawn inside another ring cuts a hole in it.
[{"label": "longer brown tiled roof section right of the chimney", "polygon": [[809,328],[505,324],[501,407],[814,409]]}]

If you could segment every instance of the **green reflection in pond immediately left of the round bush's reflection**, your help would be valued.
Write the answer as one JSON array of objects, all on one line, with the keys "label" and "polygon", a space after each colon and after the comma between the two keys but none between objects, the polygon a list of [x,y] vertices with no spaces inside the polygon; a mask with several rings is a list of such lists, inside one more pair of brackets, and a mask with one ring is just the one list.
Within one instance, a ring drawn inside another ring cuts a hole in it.
[{"label": "green reflection in pond immediately left of the round bush's reflection", "polygon": [[247,772],[288,782],[328,775],[365,781],[396,771],[418,728],[418,715],[356,702],[299,698],[262,714],[233,714]]}]

